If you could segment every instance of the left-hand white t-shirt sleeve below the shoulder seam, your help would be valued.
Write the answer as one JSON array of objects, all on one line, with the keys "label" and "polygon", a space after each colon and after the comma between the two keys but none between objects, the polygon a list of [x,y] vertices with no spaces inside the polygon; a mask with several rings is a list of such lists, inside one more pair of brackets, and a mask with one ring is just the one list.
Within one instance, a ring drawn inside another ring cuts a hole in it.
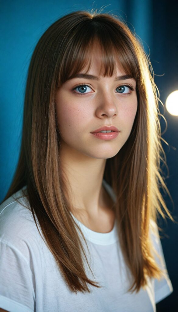
[{"label": "left-hand white t-shirt sleeve below the shoulder seam", "polygon": [[0,308],[10,312],[35,309],[31,269],[21,252],[3,241],[0,241]]}]

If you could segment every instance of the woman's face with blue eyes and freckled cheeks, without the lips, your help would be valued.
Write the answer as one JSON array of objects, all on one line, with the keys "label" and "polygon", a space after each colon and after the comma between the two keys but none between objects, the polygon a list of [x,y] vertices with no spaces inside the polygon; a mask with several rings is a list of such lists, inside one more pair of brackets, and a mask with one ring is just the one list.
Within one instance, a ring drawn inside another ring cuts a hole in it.
[{"label": "woman's face with blue eyes and freckled cheeks, without the lips", "polygon": [[[116,77],[99,76],[100,58],[99,50],[95,50],[87,73],[97,79],[67,80],[56,94],[61,149],[75,152],[77,157],[107,159],[115,156],[127,141],[137,112],[136,81],[128,77],[116,80],[125,75],[119,66]],[[84,72],[85,68],[79,74]],[[114,139],[99,139],[91,133],[111,125],[120,131]]]}]

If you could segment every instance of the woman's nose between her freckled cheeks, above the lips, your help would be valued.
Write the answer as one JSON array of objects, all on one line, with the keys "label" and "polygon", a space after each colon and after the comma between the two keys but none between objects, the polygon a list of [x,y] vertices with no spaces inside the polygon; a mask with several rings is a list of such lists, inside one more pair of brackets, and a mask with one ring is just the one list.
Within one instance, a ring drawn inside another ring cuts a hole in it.
[{"label": "woman's nose between her freckled cheeks, above the lips", "polygon": [[118,115],[116,99],[113,95],[108,93],[102,93],[97,99],[96,115],[99,118],[102,117],[116,117]]}]

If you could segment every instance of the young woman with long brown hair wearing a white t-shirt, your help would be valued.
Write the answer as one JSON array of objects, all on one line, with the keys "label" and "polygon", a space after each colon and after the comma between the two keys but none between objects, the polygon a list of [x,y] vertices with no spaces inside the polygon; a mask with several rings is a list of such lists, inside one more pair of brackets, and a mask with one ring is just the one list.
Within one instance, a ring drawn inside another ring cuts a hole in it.
[{"label": "young woman with long brown hair wearing a white t-shirt", "polygon": [[156,225],[158,214],[174,220],[159,191],[150,69],[109,14],[70,13],[40,38],[0,206],[1,309],[151,312],[173,291]]}]

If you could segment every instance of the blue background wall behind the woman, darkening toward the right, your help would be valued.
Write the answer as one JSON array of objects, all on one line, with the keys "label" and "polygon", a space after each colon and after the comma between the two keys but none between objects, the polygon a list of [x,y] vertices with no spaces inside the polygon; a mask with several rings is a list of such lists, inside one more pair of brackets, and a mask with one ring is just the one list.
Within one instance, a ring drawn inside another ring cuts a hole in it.
[{"label": "blue background wall behind the woman, darkening toward the right", "polygon": [[[22,138],[23,101],[27,70],[32,52],[45,30],[58,18],[72,11],[101,9],[123,18],[131,30],[142,39],[147,53],[150,49],[155,82],[160,99],[178,89],[178,19],[177,1],[107,0],[62,3],[57,0],[0,2],[1,73],[0,73],[0,201],[5,197],[16,169]],[[162,193],[168,209],[178,221],[178,117],[160,111],[167,120],[167,130],[162,138],[169,172],[162,165],[166,185],[174,201]],[[161,118],[161,132],[165,131]],[[159,225],[169,238],[161,239],[168,273],[174,292],[157,304],[157,311],[177,311],[178,296],[178,225],[162,220]]]}]

